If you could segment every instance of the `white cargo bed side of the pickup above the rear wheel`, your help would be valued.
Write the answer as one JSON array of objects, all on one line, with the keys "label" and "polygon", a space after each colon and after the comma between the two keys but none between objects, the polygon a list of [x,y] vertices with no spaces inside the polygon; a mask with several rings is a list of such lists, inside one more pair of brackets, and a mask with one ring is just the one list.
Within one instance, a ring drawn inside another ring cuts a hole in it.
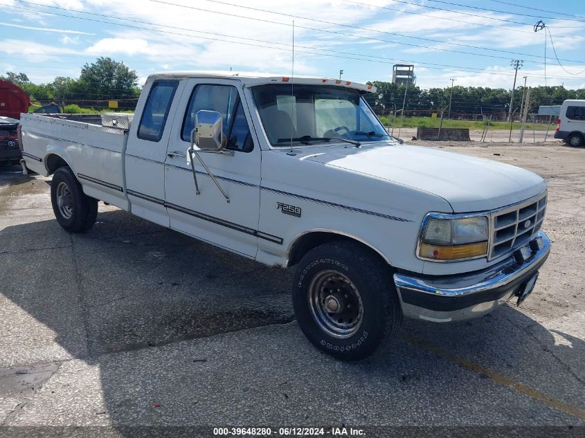
[{"label": "white cargo bed side of the pickup above the rear wheel", "polygon": [[[95,116],[92,121],[97,121]],[[27,167],[47,175],[59,156],[75,169],[86,194],[122,208],[127,205],[123,160],[127,130],[44,114],[23,114],[20,122]]]}]

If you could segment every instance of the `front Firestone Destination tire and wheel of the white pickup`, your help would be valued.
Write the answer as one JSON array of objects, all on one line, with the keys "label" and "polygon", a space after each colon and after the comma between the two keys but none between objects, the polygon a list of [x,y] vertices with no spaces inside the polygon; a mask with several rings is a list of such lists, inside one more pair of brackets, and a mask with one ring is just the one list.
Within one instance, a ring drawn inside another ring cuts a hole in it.
[{"label": "front Firestone Destination tire and wheel of the white pickup", "polygon": [[293,306],[309,341],[343,361],[381,349],[402,323],[388,265],[351,241],[317,246],[301,259]]}]

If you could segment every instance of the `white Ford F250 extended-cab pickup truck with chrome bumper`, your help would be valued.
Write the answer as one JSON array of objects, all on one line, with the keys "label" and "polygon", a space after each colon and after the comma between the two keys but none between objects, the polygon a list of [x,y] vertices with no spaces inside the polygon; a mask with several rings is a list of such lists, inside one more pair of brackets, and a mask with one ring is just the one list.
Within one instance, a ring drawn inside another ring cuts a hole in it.
[{"label": "white Ford F250 extended-cab pickup truck with chrome bumper", "polygon": [[[403,316],[483,316],[534,288],[550,251],[546,183],[388,136],[372,85],[238,73],[148,78],[132,122],[21,116],[24,165],[53,175],[70,232],[98,199],[270,266],[296,265],[307,338],[344,360]],[[105,126],[104,126],[105,125]]]}]

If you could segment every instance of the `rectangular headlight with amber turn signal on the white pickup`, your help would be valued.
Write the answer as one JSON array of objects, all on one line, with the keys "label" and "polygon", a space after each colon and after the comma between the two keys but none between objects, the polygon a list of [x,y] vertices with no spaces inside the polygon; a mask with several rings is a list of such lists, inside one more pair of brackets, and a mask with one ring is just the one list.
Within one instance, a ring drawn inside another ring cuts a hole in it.
[{"label": "rectangular headlight with amber turn signal on the white pickup", "polygon": [[487,255],[488,232],[486,216],[431,217],[422,231],[418,255],[431,260],[481,257]]}]

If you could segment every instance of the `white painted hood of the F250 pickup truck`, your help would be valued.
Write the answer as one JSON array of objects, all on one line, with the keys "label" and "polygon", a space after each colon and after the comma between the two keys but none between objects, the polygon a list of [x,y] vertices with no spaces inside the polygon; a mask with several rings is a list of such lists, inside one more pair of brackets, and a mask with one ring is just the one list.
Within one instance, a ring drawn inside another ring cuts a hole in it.
[{"label": "white painted hood of the F250 pickup truck", "polygon": [[428,147],[323,147],[305,159],[436,194],[453,212],[492,210],[546,190],[540,176],[520,167]]}]

